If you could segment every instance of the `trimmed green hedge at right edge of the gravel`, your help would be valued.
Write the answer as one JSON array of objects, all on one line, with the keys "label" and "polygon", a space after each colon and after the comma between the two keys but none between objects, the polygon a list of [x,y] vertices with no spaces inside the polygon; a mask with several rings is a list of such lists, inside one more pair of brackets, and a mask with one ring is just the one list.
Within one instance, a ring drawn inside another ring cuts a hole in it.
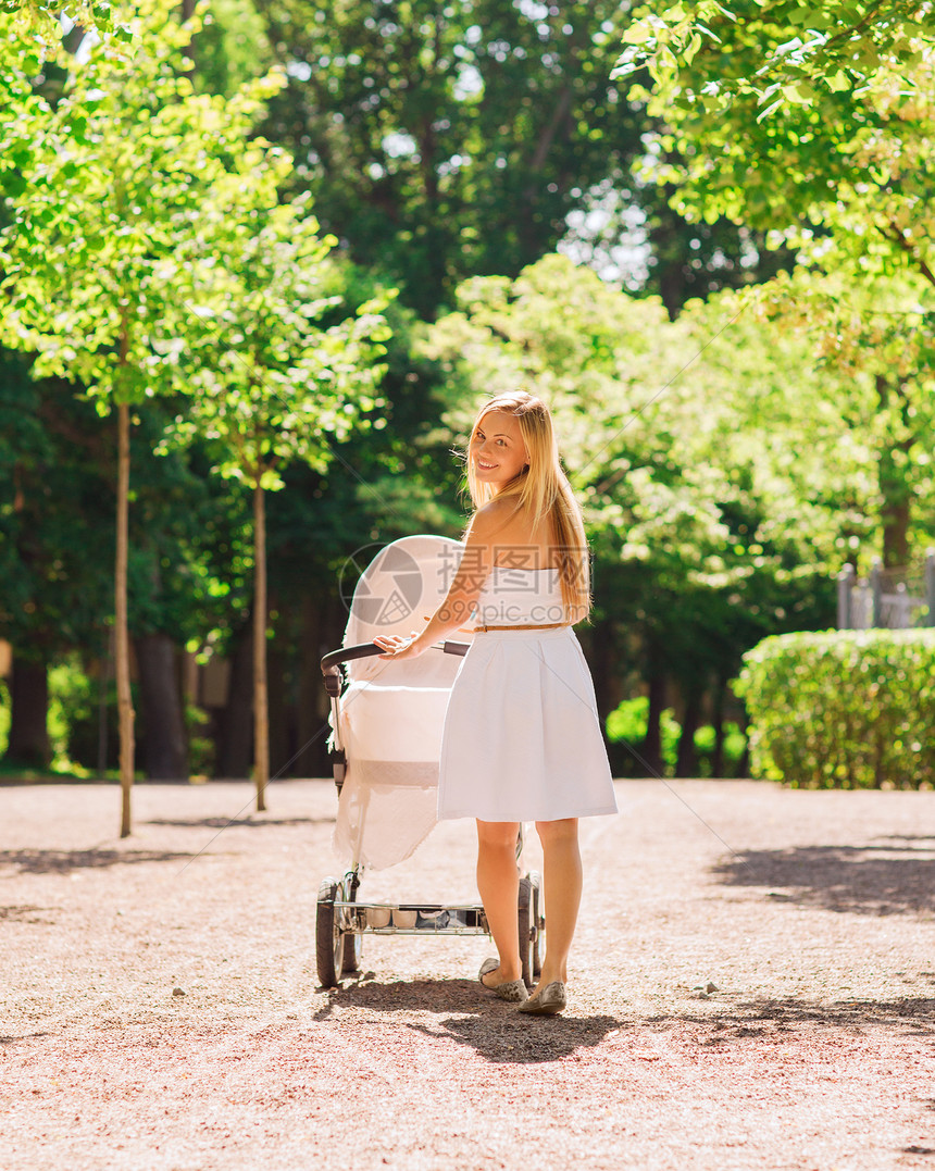
[{"label": "trimmed green hedge at right edge of the gravel", "polygon": [[765,638],[734,684],[755,776],[806,788],[935,785],[935,630]]}]

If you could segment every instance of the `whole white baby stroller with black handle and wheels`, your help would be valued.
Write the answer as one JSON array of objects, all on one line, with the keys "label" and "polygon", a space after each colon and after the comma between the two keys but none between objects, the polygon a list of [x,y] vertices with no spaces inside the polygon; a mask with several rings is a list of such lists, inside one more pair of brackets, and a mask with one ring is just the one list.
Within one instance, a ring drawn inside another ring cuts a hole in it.
[{"label": "whole white baby stroller with black handle and wheels", "polygon": [[[400,662],[379,658],[371,639],[419,629],[444,601],[462,553],[458,541],[442,536],[405,536],[385,546],[357,583],[344,646],[322,659],[338,790],[335,847],[348,864],[343,878],[325,878],[318,890],[316,960],[326,988],[359,971],[365,934],[490,934],[480,905],[359,898],[367,868],[405,861],[435,826],[441,728],[470,635]],[[522,845],[521,831],[517,867]],[[539,885],[534,872],[520,879],[520,958],[529,986],[544,951]]]}]

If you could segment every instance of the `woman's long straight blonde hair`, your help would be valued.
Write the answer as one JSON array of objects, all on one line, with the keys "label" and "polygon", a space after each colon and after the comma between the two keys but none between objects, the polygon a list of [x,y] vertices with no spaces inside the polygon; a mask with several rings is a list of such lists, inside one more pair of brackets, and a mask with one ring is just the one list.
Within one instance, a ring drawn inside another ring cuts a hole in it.
[{"label": "woman's long straight blonde hair", "polygon": [[573,616],[572,621],[578,622],[591,609],[587,537],[580,507],[562,468],[549,408],[541,398],[525,390],[497,395],[477,412],[470,429],[468,450],[481,420],[490,411],[511,415],[520,424],[520,434],[529,452],[529,464],[497,491],[493,485],[477,480],[468,457],[467,481],[472,502],[476,509],[494,497],[516,497],[516,511],[522,509],[529,514],[534,532],[543,521],[549,525],[558,559],[562,601]]}]

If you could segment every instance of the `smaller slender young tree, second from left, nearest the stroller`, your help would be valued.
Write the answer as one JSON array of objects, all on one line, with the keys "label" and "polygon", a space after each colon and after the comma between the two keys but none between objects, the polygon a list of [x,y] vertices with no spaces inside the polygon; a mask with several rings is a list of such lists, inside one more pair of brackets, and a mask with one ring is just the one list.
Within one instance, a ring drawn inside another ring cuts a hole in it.
[{"label": "smaller slender young tree, second from left, nearest the stroller", "polygon": [[[283,486],[281,471],[296,459],[323,470],[332,437],[346,438],[355,418],[378,405],[379,343],[386,329],[379,315],[385,302],[369,301],[349,317],[339,310],[325,262],[335,241],[318,235],[307,200],[276,203],[286,170],[250,170],[246,213],[238,177],[215,190],[208,251],[190,271],[190,303],[204,333],[190,374],[193,393],[177,417],[176,433],[204,436],[216,470],[242,479],[253,493],[254,781],[256,807],[263,810],[269,783],[266,492]],[[337,320],[329,324],[329,315]]]}]

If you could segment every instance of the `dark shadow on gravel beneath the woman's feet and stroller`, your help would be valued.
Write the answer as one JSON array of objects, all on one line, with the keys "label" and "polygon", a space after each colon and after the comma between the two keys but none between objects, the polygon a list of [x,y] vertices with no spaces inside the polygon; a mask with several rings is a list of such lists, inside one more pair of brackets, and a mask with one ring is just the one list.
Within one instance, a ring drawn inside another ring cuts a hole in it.
[{"label": "dark shadow on gravel beneath the woman's feet and stroller", "polygon": [[432,1013],[432,1025],[401,1021],[406,1028],[431,1038],[448,1038],[470,1046],[481,1057],[501,1064],[541,1064],[561,1061],[578,1049],[591,1048],[620,1027],[614,1016],[577,1016],[573,1002],[562,1016],[528,1016],[484,993],[474,980],[406,980],[370,982],[335,988],[316,1020],[325,1020],[332,1007],[365,1008],[379,1013]]}]

